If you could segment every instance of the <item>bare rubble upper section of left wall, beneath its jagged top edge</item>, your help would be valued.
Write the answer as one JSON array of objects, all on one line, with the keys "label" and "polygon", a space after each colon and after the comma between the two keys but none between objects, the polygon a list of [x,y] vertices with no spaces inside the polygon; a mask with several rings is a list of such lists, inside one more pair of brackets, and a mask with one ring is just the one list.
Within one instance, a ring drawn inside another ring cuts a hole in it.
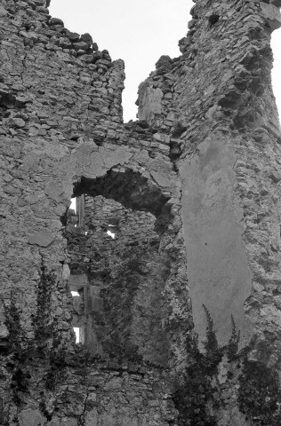
[{"label": "bare rubble upper section of left wall, beneath its jagged top edge", "polygon": [[4,118],[18,132],[28,122],[31,140],[70,147],[83,136],[99,143],[122,122],[123,63],[99,51],[90,35],[68,31],[43,6],[2,2],[2,106],[22,108]]}]

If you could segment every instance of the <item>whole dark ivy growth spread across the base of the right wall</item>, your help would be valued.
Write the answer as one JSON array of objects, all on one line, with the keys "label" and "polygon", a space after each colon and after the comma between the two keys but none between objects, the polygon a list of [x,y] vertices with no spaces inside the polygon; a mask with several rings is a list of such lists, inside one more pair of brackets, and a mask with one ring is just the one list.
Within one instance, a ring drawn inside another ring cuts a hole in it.
[{"label": "whole dark ivy growth spread across the base of the right wall", "polygon": [[[249,359],[252,345],[238,351],[240,333],[233,316],[229,343],[220,347],[213,319],[204,308],[207,319],[205,352],[199,351],[196,338],[188,335],[189,365],[177,377],[173,395],[179,411],[179,426],[221,426],[219,414],[221,410],[228,409],[223,390],[228,386],[232,404],[236,404],[238,411],[244,414],[247,424],[279,426],[281,390],[277,369],[268,367],[265,360]],[[227,369],[228,380],[223,384],[219,378],[221,365]]]}]

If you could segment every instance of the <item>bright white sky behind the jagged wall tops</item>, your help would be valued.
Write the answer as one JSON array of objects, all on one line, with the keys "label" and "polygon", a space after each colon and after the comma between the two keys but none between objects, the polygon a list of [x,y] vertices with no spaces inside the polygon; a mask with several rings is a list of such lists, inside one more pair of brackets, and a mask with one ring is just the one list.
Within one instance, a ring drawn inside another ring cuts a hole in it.
[{"label": "bright white sky behind the jagged wall tops", "polygon": [[[124,59],[124,122],[136,120],[138,86],[161,55],[180,56],[178,41],[188,31],[192,0],[51,0],[50,13],[79,34],[90,33],[112,59]],[[273,34],[275,66],[272,73],[281,111],[281,28]]]}]

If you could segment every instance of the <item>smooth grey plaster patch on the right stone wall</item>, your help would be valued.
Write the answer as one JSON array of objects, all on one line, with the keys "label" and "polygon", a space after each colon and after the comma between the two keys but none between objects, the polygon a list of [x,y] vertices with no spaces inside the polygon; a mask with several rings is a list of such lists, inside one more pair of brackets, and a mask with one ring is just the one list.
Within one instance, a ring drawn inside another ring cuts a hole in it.
[{"label": "smooth grey plaster patch on the right stone wall", "polygon": [[205,338],[205,304],[221,343],[229,341],[231,314],[244,341],[250,333],[244,303],[250,296],[251,272],[242,241],[242,213],[234,194],[235,161],[225,141],[209,138],[198,146],[197,156],[180,167],[195,329],[201,340]]}]

